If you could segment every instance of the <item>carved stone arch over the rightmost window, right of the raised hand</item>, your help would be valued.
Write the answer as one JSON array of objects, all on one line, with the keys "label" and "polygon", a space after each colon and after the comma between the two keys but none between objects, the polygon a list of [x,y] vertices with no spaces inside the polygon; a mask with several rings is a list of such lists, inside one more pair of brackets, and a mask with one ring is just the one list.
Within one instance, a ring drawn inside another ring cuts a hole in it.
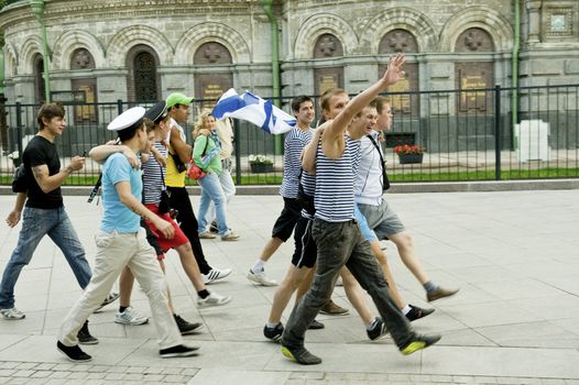
[{"label": "carved stone arch over the rightmost window, right of the raised hand", "polygon": [[498,11],[487,7],[468,7],[452,14],[440,32],[440,50],[455,52],[458,37],[470,28],[487,31],[495,51],[507,51],[513,46],[513,29]]}]

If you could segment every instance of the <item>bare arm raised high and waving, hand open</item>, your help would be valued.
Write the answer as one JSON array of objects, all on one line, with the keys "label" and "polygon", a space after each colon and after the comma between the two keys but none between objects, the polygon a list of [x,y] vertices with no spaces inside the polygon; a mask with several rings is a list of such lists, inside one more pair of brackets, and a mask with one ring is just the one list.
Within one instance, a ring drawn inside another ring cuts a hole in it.
[{"label": "bare arm raised high and waving, hand open", "polygon": [[368,106],[368,103],[380,92],[384,91],[389,86],[392,86],[404,77],[404,70],[402,70],[404,61],[405,58],[402,54],[391,57],[387,62],[387,69],[384,73],[384,76],[346,105],[346,108],[340,111],[336,119],[332,120],[332,124],[325,130],[324,139],[321,141],[325,153],[327,146],[331,146],[332,143],[336,143],[338,139],[343,136],[350,121],[358,112]]}]

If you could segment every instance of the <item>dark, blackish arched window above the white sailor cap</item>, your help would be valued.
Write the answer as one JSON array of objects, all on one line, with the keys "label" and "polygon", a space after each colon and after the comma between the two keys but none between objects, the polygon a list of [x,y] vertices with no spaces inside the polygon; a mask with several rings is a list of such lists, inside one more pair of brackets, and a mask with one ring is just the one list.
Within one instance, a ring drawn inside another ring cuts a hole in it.
[{"label": "dark, blackish arched window above the white sailor cap", "polygon": [[161,80],[156,68],[159,58],[149,45],[139,44],[127,55],[129,78],[127,81],[130,101],[148,102],[160,100]]}]

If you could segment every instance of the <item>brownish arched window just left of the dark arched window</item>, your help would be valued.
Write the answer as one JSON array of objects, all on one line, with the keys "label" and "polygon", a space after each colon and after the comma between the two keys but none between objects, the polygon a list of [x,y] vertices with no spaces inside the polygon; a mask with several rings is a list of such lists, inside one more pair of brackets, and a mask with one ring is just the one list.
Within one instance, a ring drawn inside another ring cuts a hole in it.
[{"label": "brownish arched window just left of the dark arched window", "polygon": [[[95,59],[88,50],[77,48],[70,55],[73,96],[81,102],[75,107],[75,123],[97,122],[97,78],[92,74]],[[78,76],[78,77],[77,77]],[[92,105],[91,105],[92,103]]]}]

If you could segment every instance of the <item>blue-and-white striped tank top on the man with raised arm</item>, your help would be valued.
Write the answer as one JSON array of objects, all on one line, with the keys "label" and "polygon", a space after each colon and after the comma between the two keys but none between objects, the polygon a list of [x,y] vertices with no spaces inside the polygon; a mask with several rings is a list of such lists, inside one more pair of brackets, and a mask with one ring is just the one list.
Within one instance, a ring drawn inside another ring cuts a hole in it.
[{"label": "blue-and-white striped tank top on the man with raised arm", "polygon": [[316,161],[316,218],[328,222],[353,219],[353,183],[360,164],[360,141],[345,136],[346,146],[339,160],[326,157],[318,145]]}]

